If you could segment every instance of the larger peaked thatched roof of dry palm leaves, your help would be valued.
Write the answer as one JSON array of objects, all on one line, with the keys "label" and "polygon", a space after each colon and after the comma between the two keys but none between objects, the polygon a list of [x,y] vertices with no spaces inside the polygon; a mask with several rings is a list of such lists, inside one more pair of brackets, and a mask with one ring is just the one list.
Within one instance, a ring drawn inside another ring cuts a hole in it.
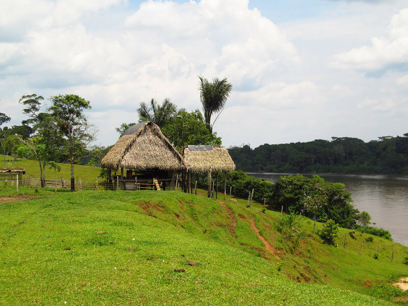
[{"label": "larger peaked thatched roof of dry palm leaves", "polygon": [[[133,133],[132,133],[133,132]],[[183,158],[153,122],[132,125],[102,159],[101,166],[138,170],[179,170]]]}]

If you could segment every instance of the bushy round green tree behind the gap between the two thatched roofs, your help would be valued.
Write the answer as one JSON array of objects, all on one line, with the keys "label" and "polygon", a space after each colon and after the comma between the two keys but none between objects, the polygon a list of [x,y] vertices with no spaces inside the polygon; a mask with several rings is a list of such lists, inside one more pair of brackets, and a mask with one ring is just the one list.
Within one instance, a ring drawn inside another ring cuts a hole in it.
[{"label": "bushy round green tree behind the gap between the two thatched roofs", "polygon": [[198,110],[183,112],[165,125],[162,132],[177,149],[188,144],[221,144],[221,138],[210,133]]}]

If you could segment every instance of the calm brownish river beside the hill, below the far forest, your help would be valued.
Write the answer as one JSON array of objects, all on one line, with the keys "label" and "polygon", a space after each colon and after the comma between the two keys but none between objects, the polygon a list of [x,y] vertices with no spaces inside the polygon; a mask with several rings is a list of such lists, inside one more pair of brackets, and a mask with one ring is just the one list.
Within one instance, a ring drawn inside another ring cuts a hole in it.
[{"label": "calm brownish river beside the hill, below the far forest", "polygon": [[[269,182],[290,173],[252,173]],[[306,176],[311,176],[305,174]],[[395,242],[408,246],[408,176],[319,174],[324,180],[343,183],[351,193],[353,205],[371,215],[374,226],[390,231]]]}]

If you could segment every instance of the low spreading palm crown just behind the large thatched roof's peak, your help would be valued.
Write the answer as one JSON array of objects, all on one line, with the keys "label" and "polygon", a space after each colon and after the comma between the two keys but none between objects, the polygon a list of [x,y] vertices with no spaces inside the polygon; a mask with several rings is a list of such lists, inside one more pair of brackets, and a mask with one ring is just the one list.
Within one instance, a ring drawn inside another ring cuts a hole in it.
[{"label": "low spreading palm crown just behind the large thatched roof's peak", "polygon": [[185,111],[184,108],[177,109],[177,106],[171,103],[169,98],[164,98],[162,105],[158,105],[155,99],[151,99],[149,104],[141,102],[137,109],[139,122],[152,121],[160,128]]}]

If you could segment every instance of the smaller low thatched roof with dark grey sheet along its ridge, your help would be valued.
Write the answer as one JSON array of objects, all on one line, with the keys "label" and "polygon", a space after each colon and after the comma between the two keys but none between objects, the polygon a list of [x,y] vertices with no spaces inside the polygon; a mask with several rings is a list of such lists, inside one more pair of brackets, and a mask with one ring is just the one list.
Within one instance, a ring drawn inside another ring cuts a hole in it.
[{"label": "smaller low thatched roof with dark grey sheet along its ridge", "polygon": [[181,149],[181,155],[187,170],[192,172],[235,170],[235,164],[227,149],[219,145],[186,145]]}]

